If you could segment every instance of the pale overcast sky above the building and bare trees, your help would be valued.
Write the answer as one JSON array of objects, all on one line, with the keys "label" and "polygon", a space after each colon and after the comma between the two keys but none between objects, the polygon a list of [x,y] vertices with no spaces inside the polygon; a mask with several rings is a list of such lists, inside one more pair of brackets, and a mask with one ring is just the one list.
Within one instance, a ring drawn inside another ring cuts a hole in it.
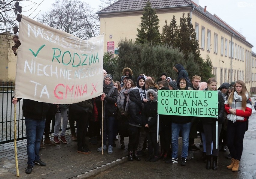
[{"label": "pale overcast sky above the building and bare trees", "polygon": [[[37,0],[38,1],[38,0]],[[100,0],[81,0],[90,4],[95,8],[95,11],[99,10]],[[127,0],[128,1],[128,0]],[[252,51],[256,53],[256,1],[255,0],[195,0],[199,1],[199,5],[206,7],[206,10],[212,14],[216,14],[227,24],[232,26],[236,31],[240,32],[246,37],[246,40],[254,47]],[[44,0],[38,11],[47,11],[50,9],[53,0]],[[25,4],[21,6],[25,8]],[[35,11],[34,16],[38,13]],[[24,13],[25,15],[28,15]],[[33,15],[31,18],[33,18]]]}]

